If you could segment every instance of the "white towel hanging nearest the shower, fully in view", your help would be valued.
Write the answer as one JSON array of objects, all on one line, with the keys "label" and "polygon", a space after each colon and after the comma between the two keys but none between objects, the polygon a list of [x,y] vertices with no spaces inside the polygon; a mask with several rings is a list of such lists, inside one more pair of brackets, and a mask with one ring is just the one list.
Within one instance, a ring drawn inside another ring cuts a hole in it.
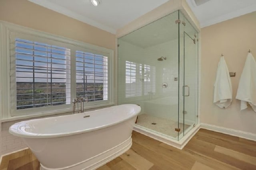
[{"label": "white towel hanging nearest the shower, fully in view", "polygon": [[227,108],[232,102],[232,84],[224,57],[220,57],[214,83],[214,104]]}]

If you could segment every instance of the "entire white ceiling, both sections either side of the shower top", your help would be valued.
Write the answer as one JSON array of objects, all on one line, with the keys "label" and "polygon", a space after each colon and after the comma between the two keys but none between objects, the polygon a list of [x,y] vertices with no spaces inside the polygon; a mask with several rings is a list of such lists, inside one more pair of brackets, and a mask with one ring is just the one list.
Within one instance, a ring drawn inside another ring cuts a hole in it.
[{"label": "entire white ceiling, both sections either side of the shower top", "polygon": [[[110,33],[168,0],[29,0]],[[256,0],[186,0],[201,27],[256,11]],[[196,1],[196,2],[195,2]]]}]

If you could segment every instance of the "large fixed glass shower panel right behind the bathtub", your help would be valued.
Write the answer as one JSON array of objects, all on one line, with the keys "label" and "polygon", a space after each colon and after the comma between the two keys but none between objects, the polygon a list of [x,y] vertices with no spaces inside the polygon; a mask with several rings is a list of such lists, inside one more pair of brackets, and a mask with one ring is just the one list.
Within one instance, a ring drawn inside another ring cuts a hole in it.
[{"label": "large fixed glass shower panel right behind the bathtub", "polygon": [[118,104],[141,107],[136,128],[177,140],[178,11],[118,38]]}]

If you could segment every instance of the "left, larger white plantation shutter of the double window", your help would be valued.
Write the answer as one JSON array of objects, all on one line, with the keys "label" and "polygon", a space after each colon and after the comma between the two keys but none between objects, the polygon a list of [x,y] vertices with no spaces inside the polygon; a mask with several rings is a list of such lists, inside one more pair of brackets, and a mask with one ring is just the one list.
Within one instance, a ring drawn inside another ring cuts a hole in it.
[{"label": "left, larger white plantation shutter of the double window", "polygon": [[14,32],[10,37],[12,115],[70,105],[69,45]]}]

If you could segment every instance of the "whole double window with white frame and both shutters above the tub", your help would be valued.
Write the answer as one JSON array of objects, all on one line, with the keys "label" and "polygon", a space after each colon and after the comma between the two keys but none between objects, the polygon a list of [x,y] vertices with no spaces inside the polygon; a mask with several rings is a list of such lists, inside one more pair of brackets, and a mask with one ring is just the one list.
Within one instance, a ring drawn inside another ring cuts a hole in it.
[{"label": "whole double window with white frame and both shutters above the tub", "polygon": [[89,99],[86,108],[114,104],[113,50],[0,24],[0,35],[6,37],[0,39],[4,47],[1,61],[5,63],[0,67],[0,85],[6,96],[0,102],[8,105],[4,119],[72,111],[72,99],[81,96]]}]

